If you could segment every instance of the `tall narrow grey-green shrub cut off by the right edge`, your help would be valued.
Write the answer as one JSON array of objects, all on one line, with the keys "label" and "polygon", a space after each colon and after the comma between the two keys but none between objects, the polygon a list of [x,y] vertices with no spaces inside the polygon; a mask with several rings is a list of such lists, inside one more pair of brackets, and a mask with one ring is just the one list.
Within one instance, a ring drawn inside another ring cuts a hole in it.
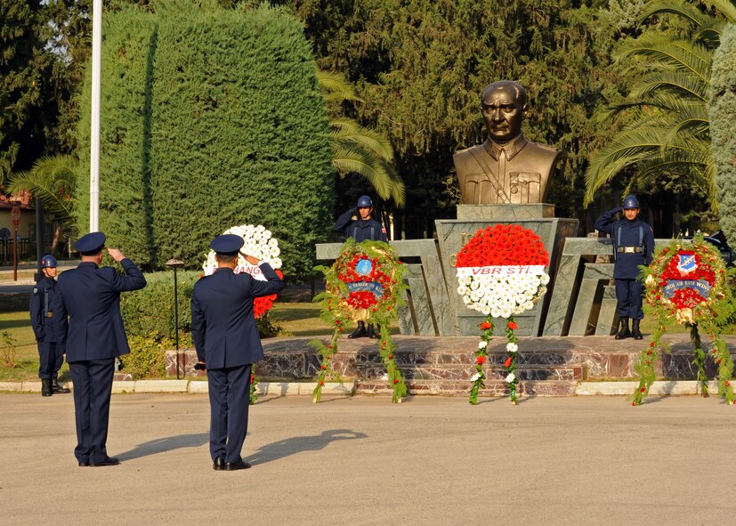
[{"label": "tall narrow grey-green shrub cut off by the right edge", "polygon": [[736,247],[736,25],[729,24],[713,57],[710,136],[721,228]]}]

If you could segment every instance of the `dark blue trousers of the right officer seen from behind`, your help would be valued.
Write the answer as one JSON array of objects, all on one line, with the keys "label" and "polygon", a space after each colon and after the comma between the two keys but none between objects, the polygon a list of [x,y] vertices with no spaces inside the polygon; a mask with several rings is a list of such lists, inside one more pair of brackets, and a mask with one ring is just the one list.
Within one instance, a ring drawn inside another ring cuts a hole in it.
[{"label": "dark blue trousers of the right officer seen from behind", "polygon": [[207,369],[209,381],[209,451],[212,459],[239,462],[248,431],[251,364]]}]

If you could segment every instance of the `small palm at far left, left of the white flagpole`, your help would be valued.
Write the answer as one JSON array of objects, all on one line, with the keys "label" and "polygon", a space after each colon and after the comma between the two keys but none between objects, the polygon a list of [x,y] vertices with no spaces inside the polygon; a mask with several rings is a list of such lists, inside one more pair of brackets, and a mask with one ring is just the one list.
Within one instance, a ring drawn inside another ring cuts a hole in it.
[{"label": "small palm at far left, left of the white flagpole", "polygon": [[[28,190],[36,198],[41,198],[46,211],[67,226],[74,221],[76,186],[76,161],[69,155],[39,158],[30,170],[12,174],[8,182],[8,190],[12,192]],[[61,234],[61,226],[57,226],[52,247],[56,247]]]}]

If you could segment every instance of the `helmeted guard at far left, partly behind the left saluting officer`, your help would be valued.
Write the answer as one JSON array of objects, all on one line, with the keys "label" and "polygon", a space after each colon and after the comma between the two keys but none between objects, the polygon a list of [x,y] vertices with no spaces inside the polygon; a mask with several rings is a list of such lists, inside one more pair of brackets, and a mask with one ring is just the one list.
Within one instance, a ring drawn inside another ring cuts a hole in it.
[{"label": "helmeted guard at far left, partly behind the left saluting officer", "polygon": [[69,392],[59,384],[59,369],[64,363],[61,346],[56,344],[53,330],[53,296],[56,291],[56,259],[53,255],[44,255],[41,259],[41,271],[44,277],[36,283],[33,295],[30,296],[30,322],[36,335],[38,356],[41,367],[38,377],[41,378],[41,396],[51,396],[61,392]]}]

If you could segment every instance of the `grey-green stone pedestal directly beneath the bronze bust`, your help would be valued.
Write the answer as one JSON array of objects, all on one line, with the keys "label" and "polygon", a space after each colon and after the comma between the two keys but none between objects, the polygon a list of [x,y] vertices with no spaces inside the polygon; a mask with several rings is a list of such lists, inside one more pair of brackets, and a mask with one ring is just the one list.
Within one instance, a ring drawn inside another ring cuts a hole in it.
[{"label": "grey-green stone pedestal directly beneath the bronze bust", "polygon": [[[552,213],[552,217],[548,215]],[[480,218],[482,214],[488,214]],[[531,217],[531,214],[541,214]],[[534,205],[461,205],[457,207],[457,220],[437,220],[437,237],[440,242],[441,264],[448,282],[450,295],[450,316],[454,321],[455,336],[477,336],[478,325],[485,317],[463,303],[457,294],[457,278],[455,277],[455,258],[457,252],[473,235],[494,224],[518,224],[536,233],[545,244],[550,255],[550,264],[546,269],[550,276],[547,294],[535,304],[534,309],[515,316],[519,325],[519,336],[540,336],[545,327],[547,308],[554,290],[554,276],[562,255],[565,238],[574,237],[578,232],[577,219],[554,217],[554,206],[544,203]],[[504,320],[497,320],[497,334],[503,334]]]}]

